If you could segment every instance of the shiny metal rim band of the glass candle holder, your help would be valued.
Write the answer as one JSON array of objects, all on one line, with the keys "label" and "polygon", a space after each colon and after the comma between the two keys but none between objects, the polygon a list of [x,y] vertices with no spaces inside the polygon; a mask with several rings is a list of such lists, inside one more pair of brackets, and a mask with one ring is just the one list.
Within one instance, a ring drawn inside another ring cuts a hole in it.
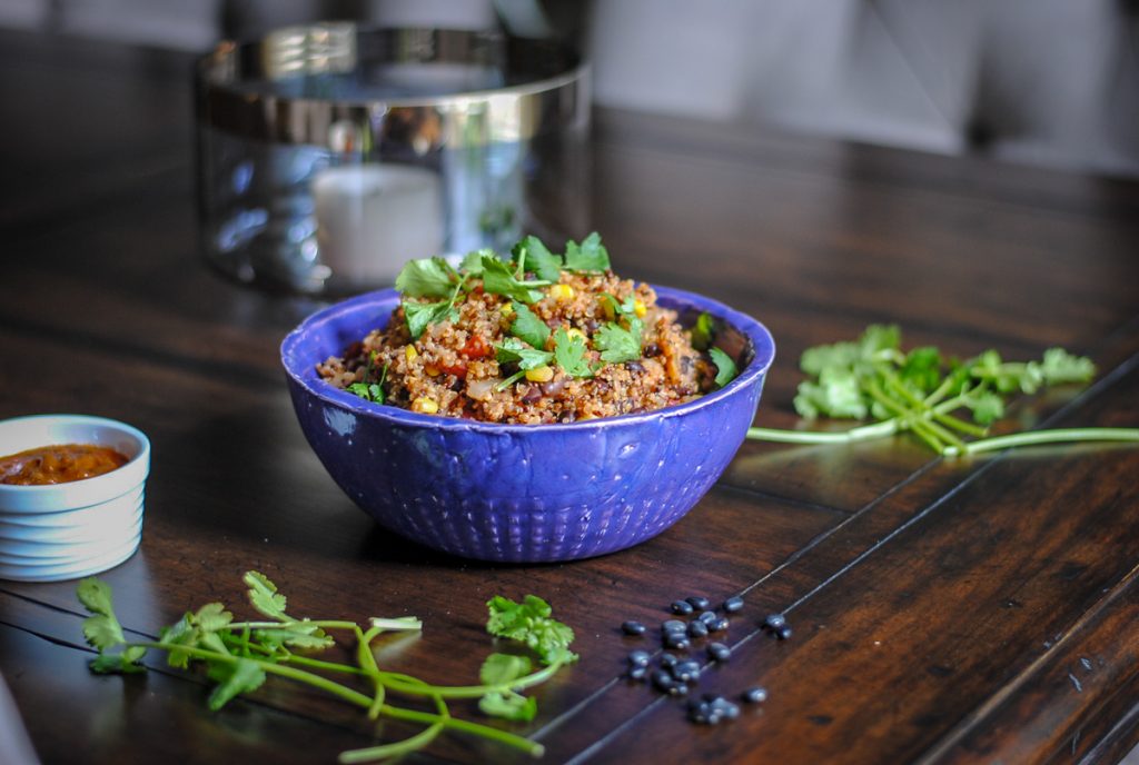
[{"label": "shiny metal rim band of the glass candle holder", "polygon": [[[346,74],[376,59],[498,66],[508,81],[501,88],[377,99],[293,98],[272,89],[298,77]],[[196,77],[200,124],[272,143],[344,150],[349,125],[364,153],[398,141],[427,154],[589,124],[588,64],[549,41],[487,32],[370,28],[350,22],[285,27],[257,42],[219,43],[199,59]],[[262,87],[248,87],[251,81]],[[393,130],[401,132],[393,137]]]}]

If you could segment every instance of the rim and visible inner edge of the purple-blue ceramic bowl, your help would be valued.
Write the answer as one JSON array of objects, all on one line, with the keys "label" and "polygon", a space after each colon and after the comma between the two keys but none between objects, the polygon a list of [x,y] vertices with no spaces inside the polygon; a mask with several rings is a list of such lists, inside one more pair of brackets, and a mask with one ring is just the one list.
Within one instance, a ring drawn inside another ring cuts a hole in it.
[{"label": "rim and visible inner edge of the purple-blue ceramic bowl", "polygon": [[[646,282],[647,283],[647,282]],[[394,288],[379,289],[363,293],[344,301],[328,305],[306,316],[297,324],[285,339],[281,340],[280,356],[287,377],[305,393],[318,400],[334,404],[347,410],[353,414],[369,418],[378,418],[392,423],[405,427],[429,427],[441,430],[476,431],[489,435],[521,435],[534,434],[549,430],[574,431],[595,430],[597,428],[639,426],[647,422],[659,421],[683,417],[689,412],[698,411],[707,406],[715,406],[716,403],[731,397],[740,392],[751,388],[757,380],[762,379],[771,368],[776,356],[776,344],[770,330],[751,315],[736,311],[728,305],[696,293],[689,293],[672,287],[648,285],[658,298],[664,298],[664,303],[687,303],[698,310],[707,311],[714,318],[727,322],[734,329],[745,335],[753,346],[754,355],[748,364],[728,385],[699,398],[681,404],[673,404],[662,409],[655,409],[636,414],[616,414],[614,417],[601,417],[592,420],[580,420],[575,422],[547,422],[547,423],[508,423],[508,422],[484,422],[482,420],[468,420],[464,418],[441,417],[437,414],[421,414],[399,406],[377,404],[366,401],[346,390],[342,390],[325,382],[316,373],[317,363],[323,359],[301,357],[300,348],[306,337],[313,331],[334,323],[344,314],[354,312],[367,305],[388,306],[385,307],[377,321],[386,322],[391,318],[391,309],[400,298],[400,294]],[[377,326],[386,326],[386,323]]]}]

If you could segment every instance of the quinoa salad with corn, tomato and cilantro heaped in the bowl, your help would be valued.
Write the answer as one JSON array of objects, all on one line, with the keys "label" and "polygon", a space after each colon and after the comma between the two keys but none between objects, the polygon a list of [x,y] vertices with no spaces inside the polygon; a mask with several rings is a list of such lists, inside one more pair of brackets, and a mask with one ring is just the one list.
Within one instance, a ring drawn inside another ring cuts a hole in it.
[{"label": "quinoa salad with corn, tomato and cilantro heaped in the bowl", "polygon": [[645,412],[726,385],[735,362],[645,283],[616,277],[600,237],[551,253],[535,237],[510,258],[460,268],[410,261],[384,329],[317,365],[327,382],[415,412],[484,422],[574,422]]}]

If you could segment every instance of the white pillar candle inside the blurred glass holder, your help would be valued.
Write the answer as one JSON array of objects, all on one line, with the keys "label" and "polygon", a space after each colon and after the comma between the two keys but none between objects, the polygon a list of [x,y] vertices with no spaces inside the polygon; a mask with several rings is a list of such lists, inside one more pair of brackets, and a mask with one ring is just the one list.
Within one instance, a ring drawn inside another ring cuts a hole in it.
[{"label": "white pillar candle inside the blurred glass holder", "polygon": [[443,252],[439,175],[410,165],[330,167],[312,182],[320,260],[344,285],[391,283],[403,264]]}]

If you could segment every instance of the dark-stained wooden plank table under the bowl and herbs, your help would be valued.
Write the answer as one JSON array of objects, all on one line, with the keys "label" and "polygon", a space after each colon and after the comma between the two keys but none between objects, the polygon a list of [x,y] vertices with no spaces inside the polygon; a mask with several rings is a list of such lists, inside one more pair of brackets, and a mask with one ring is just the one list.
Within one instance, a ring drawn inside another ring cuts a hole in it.
[{"label": "dark-stained wooden plank table under the bowl and herbs", "polygon": [[[296,425],[278,363],[317,307],[196,253],[189,60],[5,33],[0,417],[74,411],[151,438],[140,551],[104,576],[134,636],[259,569],[298,614],[415,614],[380,661],[469,683],[484,602],[527,592],[580,664],[511,730],[549,763],[1115,762],[1139,707],[1139,450],[934,459],[907,437],[747,443],[677,526],[551,566],[450,559],[377,528]],[[63,54],[66,51],[66,59]],[[899,322],[908,344],[1090,354],[1093,385],[1018,400],[1009,427],[1139,423],[1139,184],[601,112],[593,225],[622,272],[754,314],[779,356],[756,422],[794,427],[808,346]],[[330,763],[354,709],[265,686],[219,714],[165,668],[88,673],[75,583],[0,583],[0,673],[46,763]],[[700,692],[770,692],[719,727],[622,678],[678,597],[747,606]],[[784,611],[794,636],[760,622]],[[467,714],[472,710],[459,708]],[[477,713],[474,713],[477,715]],[[413,729],[388,725],[386,737]],[[427,762],[522,762],[460,734]]]}]

